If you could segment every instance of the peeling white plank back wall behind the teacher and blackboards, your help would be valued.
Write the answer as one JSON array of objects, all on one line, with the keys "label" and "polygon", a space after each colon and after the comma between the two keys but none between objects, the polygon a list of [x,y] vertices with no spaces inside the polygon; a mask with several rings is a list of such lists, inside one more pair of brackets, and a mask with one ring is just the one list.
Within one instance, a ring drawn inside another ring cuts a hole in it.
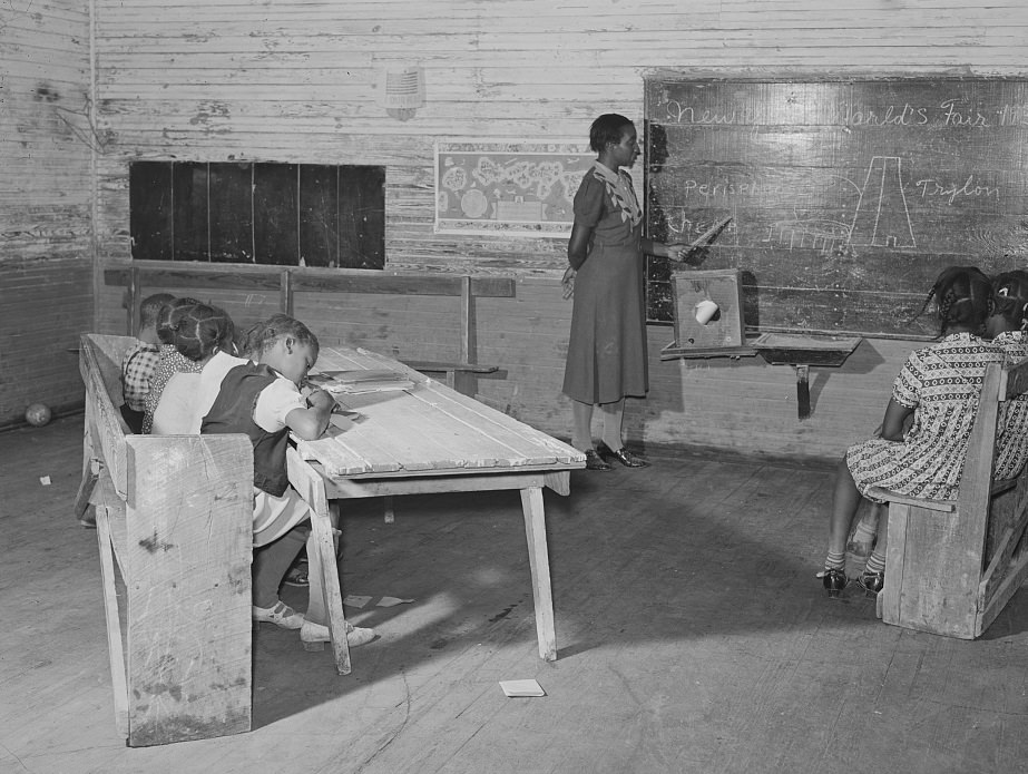
[{"label": "peeling white plank back wall behind the teacher and blackboards", "polygon": [[[560,395],[570,304],[557,281],[560,239],[437,235],[433,143],[453,137],[581,138],[599,112],[639,119],[643,77],[691,75],[1024,75],[1020,0],[351,0],[272,4],[94,0],[97,239],[100,267],[129,256],[133,159],[381,164],[386,265],[508,274],[516,300],[477,302],[478,357],[506,370],[483,394],[568,434]],[[419,65],[425,105],[408,121],[376,104],[390,65]],[[303,300],[323,336],[418,356],[446,350],[437,300]],[[120,291],[98,298],[121,332]],[[629,409],[650,442],[796,455],[838,453],[881,418],[913,342],[861,345],[838,371],[814,370],[814,415],[799,422],[795,381],[762,361],[660,362],[669,327],[650,330],[653,390]],[[410,355],[409,355],[410,356]],[[452,356],[452,355],[451,355]]]}]

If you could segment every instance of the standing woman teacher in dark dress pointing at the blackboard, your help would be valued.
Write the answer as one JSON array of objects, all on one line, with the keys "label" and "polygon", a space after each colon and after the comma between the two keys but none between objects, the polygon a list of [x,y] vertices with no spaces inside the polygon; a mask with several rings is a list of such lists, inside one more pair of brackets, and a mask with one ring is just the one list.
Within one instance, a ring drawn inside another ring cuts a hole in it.
[{"label": "standing woman teacher in dark dress pointing at the blackboard", "polygon": [[[639,156],[635,125],[604,114],[589,129],[597,159],[575,195],[564,297],[574,295],[564,392],[571,399],[571,445],[586,452],[586,468],[610,470],[649,464],[625,448],[625,398],[649,390],[646,357],[645,255],[682,259],[687,246],[643,237],[643,210],[625,168]],[[604,415],[603,440],[593,445],[593,406]]]}]

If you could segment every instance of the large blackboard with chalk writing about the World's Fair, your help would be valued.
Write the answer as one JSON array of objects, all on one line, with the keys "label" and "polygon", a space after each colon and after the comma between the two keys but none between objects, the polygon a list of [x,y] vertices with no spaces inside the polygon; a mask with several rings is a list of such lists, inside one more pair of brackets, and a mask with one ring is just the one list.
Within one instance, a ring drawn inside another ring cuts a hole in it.
[{"label": "large blackboard with chalk writing about the World's Fair", "polygon": [[[648,234],[732,222],[747,327],[932,335],[948,265],[1028,267],[1028,80],[646,80]],[[649,267],[667,320],[667,270]]]}]

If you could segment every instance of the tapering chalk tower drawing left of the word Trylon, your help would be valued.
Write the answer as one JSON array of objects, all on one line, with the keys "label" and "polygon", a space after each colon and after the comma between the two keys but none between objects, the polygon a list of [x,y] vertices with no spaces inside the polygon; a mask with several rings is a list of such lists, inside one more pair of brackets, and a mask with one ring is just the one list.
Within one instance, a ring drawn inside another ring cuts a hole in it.
[{"label": "tapering chalk tower drawing left of the word Trylon", "polygon": [[874,156],[850,227],[851,245],[916,247],[898,156]]}]

